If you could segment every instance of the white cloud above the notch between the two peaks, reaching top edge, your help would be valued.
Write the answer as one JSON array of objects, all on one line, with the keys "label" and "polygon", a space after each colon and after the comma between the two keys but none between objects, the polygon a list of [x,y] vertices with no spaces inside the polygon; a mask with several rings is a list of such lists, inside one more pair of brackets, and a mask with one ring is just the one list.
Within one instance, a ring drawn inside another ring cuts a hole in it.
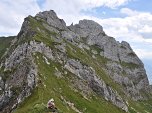
[{"label": "white cloud above the notch between the two peaks, reaching top edge", "polygon": [[92,17],[85,16],[82,10],[91,10],[95,7],[106,6],[117,8],[132,0],[46,0],[43,10],[53,9],[60,18],[64,18],[66,23],[78,23],[80,19]]}]

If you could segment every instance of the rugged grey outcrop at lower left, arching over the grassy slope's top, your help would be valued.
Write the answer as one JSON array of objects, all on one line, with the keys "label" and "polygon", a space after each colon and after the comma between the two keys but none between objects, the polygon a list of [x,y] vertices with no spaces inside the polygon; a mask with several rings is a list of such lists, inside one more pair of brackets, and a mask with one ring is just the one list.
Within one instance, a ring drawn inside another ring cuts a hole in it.
[{"label": "rugged grey outcrop at lower left, arching over the grassy slope's top", "polygon": [[[37,66],[34,63],[33,54],[39,52],[47,58],[53,60],[52,51],[44,43],[30,41],[19,45],[13,53],[5,60],[2,67],[4,73],[8,73],[8,79],[0,80],[0,111],[10,112],[26,97],[31,95],[31,91],[37,85]],[[10,79],[9,79],[10,78]],[[7,98],[7,99],[6,99]],[[15,101],[12,101],[12,98]],[[8,104],[8,102],[11,104]],[[13,106],[7,111],[8,106]]]}]

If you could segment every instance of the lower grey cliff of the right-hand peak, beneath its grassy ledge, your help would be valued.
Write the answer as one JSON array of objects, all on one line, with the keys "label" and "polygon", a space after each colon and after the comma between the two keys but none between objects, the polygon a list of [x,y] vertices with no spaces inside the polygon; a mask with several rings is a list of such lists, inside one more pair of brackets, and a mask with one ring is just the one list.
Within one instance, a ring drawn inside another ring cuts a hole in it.
[{"label": "lower grey cliff of the right-hand peak, beneath its grassy ledge", "polygon": [[140,94],[141,90],[147,91],[149,86],[146,72],[142,67],[130,69],[112,61],[108,62],[106,66],[107,75],[110,75],[115,82],[124,88],[125,94],[136,101],[146,99]]}]

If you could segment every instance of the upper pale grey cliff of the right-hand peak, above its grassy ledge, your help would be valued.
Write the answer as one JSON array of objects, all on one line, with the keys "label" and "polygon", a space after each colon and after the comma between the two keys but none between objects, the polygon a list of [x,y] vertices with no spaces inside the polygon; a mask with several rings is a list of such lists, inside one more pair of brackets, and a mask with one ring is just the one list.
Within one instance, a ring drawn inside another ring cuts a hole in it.
[{"label": "upper pale grey cliff of the right-hand peak, above its grassy ledge", "polygon": [[98,45],[103,50],[103,56],[108,59],[143,65],[127,42],[119,43],[107,36],[102,26],[94,21],[80,20],[79,24],[71,25],[69,29],[84,38],[89,45]]}]

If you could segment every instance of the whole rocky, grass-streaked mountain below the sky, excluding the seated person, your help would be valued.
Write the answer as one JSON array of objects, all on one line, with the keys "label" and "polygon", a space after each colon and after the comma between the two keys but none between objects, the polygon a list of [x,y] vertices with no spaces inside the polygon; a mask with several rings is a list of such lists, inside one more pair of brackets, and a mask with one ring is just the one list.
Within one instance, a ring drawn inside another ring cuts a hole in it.
[{"label": "whole rocky, grass-streaked mountain below the sky, excluding the seated person", "polygon": [[28,16],[17,36],[0,38],[0,53],[1,113],[46,113],[50,98],[59,113],[152,112],[142,61],[92,20]]}]

